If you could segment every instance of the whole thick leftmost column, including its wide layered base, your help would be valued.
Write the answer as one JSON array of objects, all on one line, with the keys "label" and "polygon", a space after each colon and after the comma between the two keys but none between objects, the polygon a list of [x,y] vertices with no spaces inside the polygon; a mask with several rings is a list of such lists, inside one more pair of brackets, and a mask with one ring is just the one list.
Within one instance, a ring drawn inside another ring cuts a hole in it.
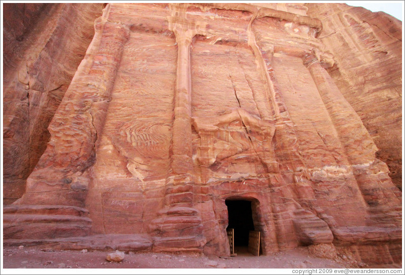
[{"label": "whole thick leftmost column, including its wide layered base", "polygon": [[[108,8],[106,11],[108,13]],[[95,36],[49,125],[51,138],[27,179],[25,194],[5,207],[5,239],[87,236],[91,219],[84,209],[122,50],[129,29],[100,17]],[[50,222],[51,221],[51,222]]]}]

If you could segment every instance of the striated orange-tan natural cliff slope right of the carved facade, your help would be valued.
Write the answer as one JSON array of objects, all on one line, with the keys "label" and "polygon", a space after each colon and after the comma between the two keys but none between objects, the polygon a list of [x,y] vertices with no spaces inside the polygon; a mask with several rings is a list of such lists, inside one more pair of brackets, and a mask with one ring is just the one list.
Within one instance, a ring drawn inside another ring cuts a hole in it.
[{"label": "striated orange-tan natural cliff slope right of the carved facade", "polygon": [[318,37],[333,53],[328,71],[402,189],[402,22],[384,12],[346,4],[306,4],[322,21]]}]

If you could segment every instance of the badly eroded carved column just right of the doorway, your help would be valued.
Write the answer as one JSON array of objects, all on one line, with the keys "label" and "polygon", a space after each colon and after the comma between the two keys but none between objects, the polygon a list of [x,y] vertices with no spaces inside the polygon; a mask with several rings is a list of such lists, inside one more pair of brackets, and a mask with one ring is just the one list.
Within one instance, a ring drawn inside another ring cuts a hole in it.
[{"label": "badly eroded carved column just right of the doorway", "polygon": [[[274,158],[278,161],[279,169],[276,171],[278,175],[270,183],[271,187],[277,187],[271,188],[270,191],[271,209],[274,213],[274,223],[272,226],[274,227],[274,232],[277,233],[272,238],[275,251],[276,249],[287,249],[298,246],[300,240],[291,240],[288,236],[297,234],[296,224],[302,227],[302,231],[307,230],[305,225],[309,219],[317,224],[318,233],[322,232],[321,234],[314,234],[310,242],[330,243],[333,240],[333,235],[328,225],[312,212],[309,212],[308,209],[304,209],[300,203],[297,203],[301,202],[301,200],[295,194],[305,194],[304,197],[307,201],[314,199],[315,194],[312,189],[310,176],[299,154],[300,150],[294,124],[291,121],[273,72],[273,47],[261,49],[260,53],[266,67],[270,90],[273,94],[272,99],[274,102],[272,106],[275,106],[274,109],[278,111],[275,113],[275,131],[271,146],[274,150]],[[284,198],[283,201],[277,199],[280,195]],[[308,207],[307,203],[305,205]],[[290,221],[286,221],[285,213],[289,213],[291,217]]]}]

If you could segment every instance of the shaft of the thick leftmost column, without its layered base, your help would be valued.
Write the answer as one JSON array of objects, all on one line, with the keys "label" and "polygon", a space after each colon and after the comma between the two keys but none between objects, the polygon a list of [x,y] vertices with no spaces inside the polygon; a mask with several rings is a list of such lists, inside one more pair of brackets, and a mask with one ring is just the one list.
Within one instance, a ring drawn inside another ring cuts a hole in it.
[{"label": "shaft of the thick leftmost column, without its layered base", "polygon": [[99,17],[95,36],[66,91],[49,132],[48,146],[27,179],[26,193],[15,204],[83,207],[88,168],[102,131],[122,50],[129,29]]}]

